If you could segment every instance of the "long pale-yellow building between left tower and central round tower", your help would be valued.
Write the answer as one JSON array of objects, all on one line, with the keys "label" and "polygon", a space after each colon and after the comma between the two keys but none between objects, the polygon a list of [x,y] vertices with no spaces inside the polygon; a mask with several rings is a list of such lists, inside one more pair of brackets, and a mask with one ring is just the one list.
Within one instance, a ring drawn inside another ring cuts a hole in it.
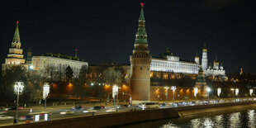
[{"label": "long pale-yellow building between left tower and central round tower", "polygon": [[41,56],[33,56],[32,65],[34,70],[40,71],[40,73],[44,73],[47,66],[62,66],[64,68],[70,66],[73,70],[73,77],[77,78],[81,67],[83,65],[88,67],[88,62],[72,56],[46,53]]}]

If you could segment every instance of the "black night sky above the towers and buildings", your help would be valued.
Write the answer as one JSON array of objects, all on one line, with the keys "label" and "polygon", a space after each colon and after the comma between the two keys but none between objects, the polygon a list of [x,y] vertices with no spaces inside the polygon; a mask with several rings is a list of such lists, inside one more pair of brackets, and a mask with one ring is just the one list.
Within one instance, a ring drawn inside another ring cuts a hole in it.
[{"label": "black night sky above the towers and buildings", "polygon": [[[21,48],[78,56],[89,64],[130,64],[141,1],[8,0],[0,3],[0,60],[11,47],[20,21]],[[174,55],[194,59],[203,42],[227,73],[256,73],[256,7],[253,0],[145,0],[151,55],[168,46]]]}]

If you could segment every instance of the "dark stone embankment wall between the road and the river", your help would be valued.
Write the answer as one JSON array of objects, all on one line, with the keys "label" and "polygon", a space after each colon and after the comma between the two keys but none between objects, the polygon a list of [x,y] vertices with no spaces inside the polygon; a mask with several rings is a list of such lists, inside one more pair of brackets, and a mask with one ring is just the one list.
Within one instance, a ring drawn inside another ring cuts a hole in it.
[{"label": "dark stone embankment wall between the road and the river", "polygon": [[55,121],[41,121],[29,124],[21,124],[16,126],[6,127],[42,127],[42,128],[60,128],[60,127],[107,127],[107,126],[122,126],[126,124],[163,120],[168,118],[178,118],[180,116],[192,116],[209,112],[218,111],[236,111],[241,109],[256,108],[256,102],[238,102],[225,103],[206,106],[192,107],[176,107],[145,111],[129,111],[106,115],[81,116],[69,119]]}]

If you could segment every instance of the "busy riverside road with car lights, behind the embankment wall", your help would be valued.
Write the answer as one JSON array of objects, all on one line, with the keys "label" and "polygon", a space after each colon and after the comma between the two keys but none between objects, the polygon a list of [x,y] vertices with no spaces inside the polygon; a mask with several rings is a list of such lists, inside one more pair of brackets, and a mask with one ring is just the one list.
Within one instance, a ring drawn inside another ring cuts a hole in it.
[{"label": "busy riverside road with car lights, behind the embankment wall", "polygon": [[[205,100],[205,101],[190,101],[190,102],[168,102],[168,103],[161,103],[159,104],[159,108],[156,109],[163,109],[163,108],[175,108],[175,107],[189,107],[189,106],[203,106],[203,105],[212,105],[212,104],[220,104],[220,103],[230,103],[230,102],[252,102],[256,101],[256,98],[235,98],[235,99],[219,99],[219,100]],[[99,106],[99,105],[96,105]],[[83,110],[90,110],[92,109],[92,105],[85,105],[83,107]],[[101,114],[111,114],[116,111],[107,112],[109,109],[115,109],[116,107],[107,106],[103,109],[97,110],[93,113],[93,115],[101,115]],[[60,120],[65,118],[73,118],[73,117],[79,117],[79,116],[92,116],[92,112],[85,113],[83,110],[73,110],[72,106],[58,106],[58,107],[47,107],[45,110],[43,107],[32,107],[32,112],[41,112],[41,111],[50,111],[50,120]],[[116,109],[115,109],[116,110]],[[117,112],[125,112],[125,111],[143,111],[140,107],[137,106],[131,106],[131,107],[125,107],[118,109]],[[30,113],[30,108],[24,108],[22,110],[18,111],[18,116],[27,116],[28,113]],[[60,114],[60,113],[64,114]],[[3,114],[0,114],[0,116]],[[4,113],[6,116],[15,116],[16,111],[7,111],[7,113]],[[26,120],[19,120],[19,124],[26,123],[26,121],[32,121],[32,119],[26,119]],[[40,116],[40,121],[44,121],[44,116]],[[0,126],[9,126],[13,125],[13,119],[9,120],[0,120]]]}]

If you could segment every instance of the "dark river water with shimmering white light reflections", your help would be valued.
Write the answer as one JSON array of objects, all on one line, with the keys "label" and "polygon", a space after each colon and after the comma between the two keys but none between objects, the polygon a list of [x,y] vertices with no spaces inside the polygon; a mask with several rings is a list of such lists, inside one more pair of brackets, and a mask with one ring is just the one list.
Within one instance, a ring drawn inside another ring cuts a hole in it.
[{"label": "dark river water with shimmering white light reflections", "polygon": [[256,128],[256,110],[232,111],[219,114],[207,113],[200,116],[181,117],[161,121],[149,121],[144,123],[122,126],[123,128],[179,128],[179,127],[252,127]]}]

